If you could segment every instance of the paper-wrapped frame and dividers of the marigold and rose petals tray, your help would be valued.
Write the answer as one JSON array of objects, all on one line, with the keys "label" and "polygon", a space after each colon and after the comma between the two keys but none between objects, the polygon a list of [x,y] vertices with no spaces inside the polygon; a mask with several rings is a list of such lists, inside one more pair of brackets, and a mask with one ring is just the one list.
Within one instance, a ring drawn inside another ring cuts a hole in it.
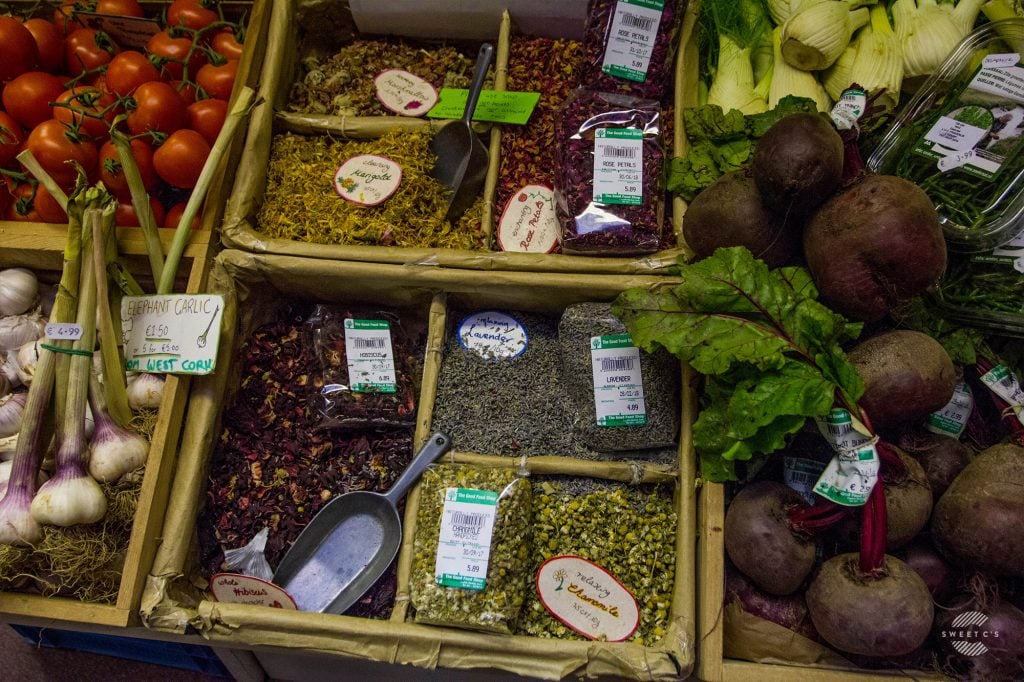
[{"label": "paper-wrapped frame and dividers of the marigold and rose petals tray", "polygon": [[[337,3],[336,3],[337,4]],[[343,4],[343,3],[342,3]],[[254,113],[250,122],[246,146],[231,193],[221,238],[227,248],[257,253],[274,253],[291,256],[308,256],[332,260],[352,260],[390,264],[431,264],[443,267],[482,270],[517,270],[551,272],[595,273],[665,273],[685,252],[684,248],[659,251],[636,257],[595,257],[564,254],[518,253],[497,250],[495,225],[502,207],[496,206],[496,189],[501,152],[501,127],[478,127],[483,141],[489,148],[489,167],[482,191],[481,230],[483,244],[479,250],[443,248],[407,248],[375,245],[315,244],[294,239],[270,237],[260,231],[257,216],[263,205],[267,187],[266,168],[270,158],[270,144],[275,132],[290,131],[300,134],[330,134],[339,139],[377,138],[390,129],[417,130],[431,133],[445,121],[409,117],[342,117],[331,115],[291,114],[284,111],[285,100],[295,78],[298,59],[300,17],[312,9],[326,11],[331,3],[305,3],[301,0],[274,3],[267,39],[267,52],[263,63],[259,96],[267,104]],[[329,15],[331,15],[329,13]],[[319,16],[319,14],[317,14]],[[323,20],[322,20],[323,23]],[[508,80],[508,54],[510,35],[515,27],[514,5],[506,12],[500,26],[495,27],[497,38],[497,66],[495,89],[505,90]],[[687,44],[688,33],[693,28],[693,15],[687,12],[681,24],[679,44]],[[321,31],[324,31],[321,27]],[[682,143],[678,112],[686,96],[681,87],[683,50],[677,50],[674,62],[676,105],[673,108],[675,125],[673,140],[663,140],[667,156],[680,154]],[[688,95],[695,102],[695,81]],[[682,99],[681,99],[682,98]],[[339,163],[341,160],[339,160]],[[338,200],[343,201],[343,200]],[[672,203],[672,230],[681,233],[684,206]],[[668,213],[669,211],[666,211]],[[309,215],[308,220],[314,220]],[[667,218],[668,219],[668,218]]]}]

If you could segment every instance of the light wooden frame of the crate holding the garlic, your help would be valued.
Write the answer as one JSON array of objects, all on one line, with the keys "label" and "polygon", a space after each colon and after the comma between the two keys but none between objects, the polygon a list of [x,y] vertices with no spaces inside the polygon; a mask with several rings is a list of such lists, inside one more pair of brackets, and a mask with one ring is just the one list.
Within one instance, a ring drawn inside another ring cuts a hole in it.
[{"label": "light wooden frame of the crate holding the garlic", "polygon": [[[0,264],[3,267],[28,267],[42,273],[44,281],[56,282],[63,264],[65,237],[59,232],[60,228],[55,225],[0,225]],[[119,228],[119,249],[124,262],[143,288],[152,291],[153,284],[146,284],[145,274],[148,272],[148,260],[138,232],[138,229]],[[166,238],[163,242],[166,250],[171,236],[161,237]],[[191,235],[175,282],[175,292],[196,293],[203,290],[209,265],[209,237],[210,232],[200,230]],[[113,627],[138,623],[139,600],[160,544],[189,384],[187,376],[167,375],[116,602],[96,604],[65,597],[0,592],[0,613]]]}]

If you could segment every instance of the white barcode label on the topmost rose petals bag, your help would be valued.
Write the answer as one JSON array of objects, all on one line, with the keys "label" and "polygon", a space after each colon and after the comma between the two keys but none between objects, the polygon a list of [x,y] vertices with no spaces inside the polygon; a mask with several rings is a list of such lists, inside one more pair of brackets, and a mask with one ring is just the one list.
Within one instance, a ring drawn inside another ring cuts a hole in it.
[{"label": "white barcode label on the topmost rose petals bag", "polygon": [[601,71],[642,83],[647,78],[665,0],[620,0],[608,30]]}]

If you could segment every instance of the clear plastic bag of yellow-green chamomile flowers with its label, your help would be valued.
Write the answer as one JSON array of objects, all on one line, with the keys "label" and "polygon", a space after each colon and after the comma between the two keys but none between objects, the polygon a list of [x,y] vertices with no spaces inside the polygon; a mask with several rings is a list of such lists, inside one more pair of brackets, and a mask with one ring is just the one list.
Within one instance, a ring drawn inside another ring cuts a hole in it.
[{"label": "clear plastic bag of yellow-green chamomile flowers with its label", "polygon": [[530,565],[525,473],[441,464],[423,474],[410,578],[417,623],[511,634]]}]

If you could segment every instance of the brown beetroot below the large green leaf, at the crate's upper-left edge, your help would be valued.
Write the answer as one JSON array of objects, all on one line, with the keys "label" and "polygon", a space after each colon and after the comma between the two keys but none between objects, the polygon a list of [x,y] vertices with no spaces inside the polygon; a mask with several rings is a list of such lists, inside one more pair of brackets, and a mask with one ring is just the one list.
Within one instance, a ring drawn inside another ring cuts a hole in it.
[{"label": "brown beetroot below the large green leaf, at the crate's upper-left edge", "polygon": [[744,576],[775,595],[796,592],[814,567],[815,546],[790,528],[786,507],[802,505],[784,483],[744,486],[725,514],[725,551]]}]

